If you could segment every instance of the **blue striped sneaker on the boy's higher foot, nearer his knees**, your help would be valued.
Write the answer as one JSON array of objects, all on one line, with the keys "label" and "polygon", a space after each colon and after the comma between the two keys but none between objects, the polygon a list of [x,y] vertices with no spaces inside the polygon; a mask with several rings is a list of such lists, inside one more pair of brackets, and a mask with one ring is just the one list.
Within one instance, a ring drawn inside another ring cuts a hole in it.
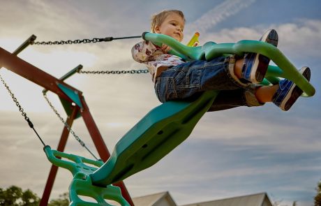
[{"label": "blue striped sneaker on the boy's higher foot, nearer his knees", "polygon": [[[260,41],[270,43],[275,47],[278,46],[278,33],[276,30],[271,29],[264,33],[260,38]],[[253,84],[259,84],[264,79],[265,73],[267,73],[267,67],[269,66],[270,59],[257,53],[246,53],[244,55],[244,64],[242,67],[242,78],[245,82],[252,82]]]}]

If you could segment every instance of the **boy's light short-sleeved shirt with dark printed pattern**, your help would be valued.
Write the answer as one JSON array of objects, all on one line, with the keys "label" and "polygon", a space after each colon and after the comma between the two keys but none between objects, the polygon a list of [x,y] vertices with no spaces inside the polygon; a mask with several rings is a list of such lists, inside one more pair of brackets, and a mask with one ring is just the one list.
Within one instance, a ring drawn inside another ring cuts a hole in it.
[{"label": "boy's light short-sleeved shirt with dark printed pattern", "polygon": [[156,77],[162,72],[158,71],[160,66],[167,68],[185,63],[181,57],[165,54],[163,50],[161,50],[161,47],[154,45],[151,41],[141,41],[137,43],[133,46],[131,52],[135,61],[147,66],[154,83],[156,82]]}]

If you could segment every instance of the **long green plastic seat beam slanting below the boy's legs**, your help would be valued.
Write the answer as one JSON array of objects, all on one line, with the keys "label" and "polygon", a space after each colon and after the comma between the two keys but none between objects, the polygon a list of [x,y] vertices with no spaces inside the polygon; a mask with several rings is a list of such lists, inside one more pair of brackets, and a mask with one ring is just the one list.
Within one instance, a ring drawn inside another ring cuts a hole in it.
[{"label": "long green plastic seat beam slanting below the boy's legs", "polygon": [[124,135],[108,161],[90,175],[105,186],[154,165],[188,138],[214,102],[218,91],[206,91],[191,101],[170,101],[151,110]]}]

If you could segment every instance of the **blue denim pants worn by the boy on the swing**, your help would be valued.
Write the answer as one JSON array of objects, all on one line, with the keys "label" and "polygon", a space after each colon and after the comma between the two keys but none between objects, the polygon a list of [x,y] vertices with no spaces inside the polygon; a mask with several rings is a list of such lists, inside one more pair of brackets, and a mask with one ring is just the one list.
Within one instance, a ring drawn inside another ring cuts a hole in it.
[{"label": "blue denim pants worn by the boy on the swing", "polygon": [[260,106],[255,84],[244,84],[234,75],[234,56],[211,61],[195,60],[172,66],[156,78],[155,91],[160,102],[184,99],[211,89],[220,90],[209,111],[239,106]]}]

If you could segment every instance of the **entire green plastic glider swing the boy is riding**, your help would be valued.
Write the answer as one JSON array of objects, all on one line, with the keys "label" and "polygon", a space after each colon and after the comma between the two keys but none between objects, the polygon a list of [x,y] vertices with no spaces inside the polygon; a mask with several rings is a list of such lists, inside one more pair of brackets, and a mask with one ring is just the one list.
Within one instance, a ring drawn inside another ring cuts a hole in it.
[{"label": "entire green plastic glider swing the boy is riding", "polygon": [[[172,47],[172,54],[190,59],[213,59],[218,55],[256,52],[269,57],[277,66],[269,66],[262,84],[277,84],[280,78],[287,78],[297,84],[303,96],[313,96],[314,87],[297,71],[278,48],[260,41],[239,41],[238,43],[206,43],[201,47],[187,47],[170,36],[144,33],[147,41]],[[281,69],[282,68],[282,69]],[[54,165],[67,168],[73,173],[70,185],[70,205],[110,205],[105,198],[121,205],[129,205],[111,184],[119,182],[157,163],[166,154],[188,138],[202,115],[214,103],[219,91],[204,91],[186,101],[170,101],[151,110],[123,138],[117,142],[110,159],[105,163],[89,161],[73,154],[64,154],[45,147],[47,158]],[[68,94],[67,94],[68,95]],[[73,162],[58,159],[62,156]],[[81,161],[80,161],[81,160]],[[84,166],[85,161],[95,168]],[[78,196],[89,196],[98,203],[87,203]]]}]

